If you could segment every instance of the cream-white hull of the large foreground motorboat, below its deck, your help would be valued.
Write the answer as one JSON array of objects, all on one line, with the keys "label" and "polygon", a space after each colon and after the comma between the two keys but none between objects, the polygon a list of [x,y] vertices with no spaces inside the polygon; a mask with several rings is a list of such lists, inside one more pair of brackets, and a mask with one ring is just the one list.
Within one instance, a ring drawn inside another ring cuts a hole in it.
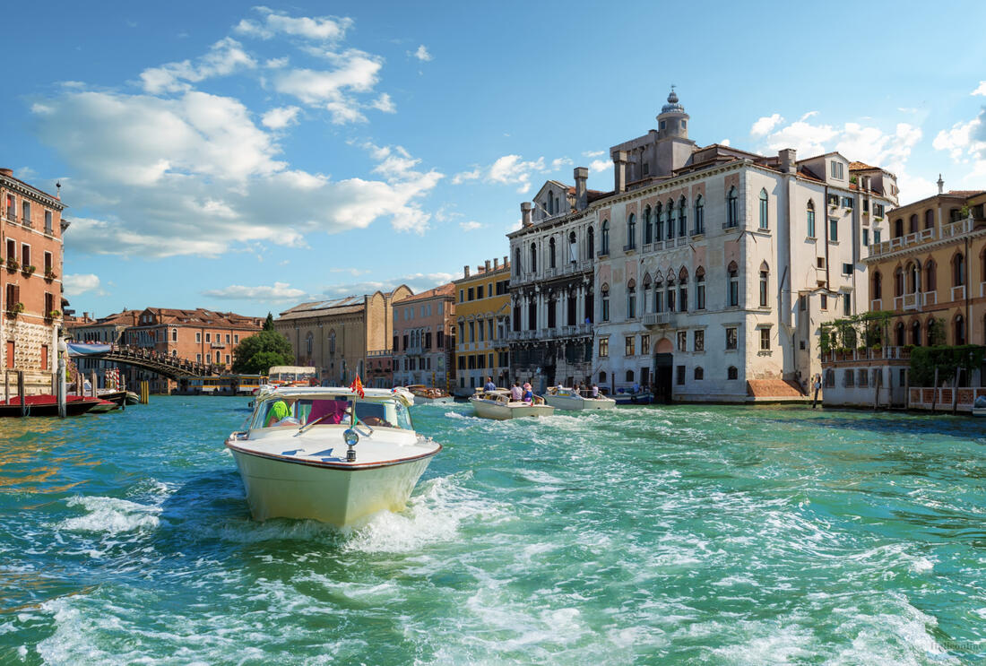
[{"label": "cream-white hull of the large foreground motorboat, below its deck", "polygon": [[434,455],[371,468],[340,468],[231,450],[255,520],[309,519],[335,527],[353,525],[378,511],[402,510]]}]

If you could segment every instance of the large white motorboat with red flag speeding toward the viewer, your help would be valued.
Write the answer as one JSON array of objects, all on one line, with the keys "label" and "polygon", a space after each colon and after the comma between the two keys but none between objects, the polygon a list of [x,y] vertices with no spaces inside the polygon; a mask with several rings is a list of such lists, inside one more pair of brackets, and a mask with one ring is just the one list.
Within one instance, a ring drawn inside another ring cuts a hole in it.
[{"label": "large white motorboat with red flag speeding toward the viewer", "polygon": [[442,445],[417,434],[403,389],[279,388],[257,396],[233,452],[255,520],[336,527],[400,511]]}]

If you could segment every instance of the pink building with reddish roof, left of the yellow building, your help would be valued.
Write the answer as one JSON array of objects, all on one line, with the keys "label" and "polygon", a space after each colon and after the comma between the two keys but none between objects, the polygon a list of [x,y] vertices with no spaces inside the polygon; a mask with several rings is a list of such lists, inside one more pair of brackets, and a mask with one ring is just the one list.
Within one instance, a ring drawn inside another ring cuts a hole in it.
[{"label": "pink building with reddish roof, left of the yellow building", "polygon": [[393,305],[393,384],[448,388],[453,379],[455,285],[444,284]]}]

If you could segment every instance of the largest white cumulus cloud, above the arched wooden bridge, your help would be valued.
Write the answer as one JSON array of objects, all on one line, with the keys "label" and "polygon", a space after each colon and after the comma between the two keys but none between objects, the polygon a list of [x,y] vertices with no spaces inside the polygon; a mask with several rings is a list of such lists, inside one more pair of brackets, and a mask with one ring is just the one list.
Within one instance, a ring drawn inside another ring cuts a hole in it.
[{"label": "largest white cumulus cloud, above the arched wooden bridge", "polygon": [[382,218],[421,232],[430,219],[421,198],[442,178],[413,169],[416,161],[381,166],[379,180],[291,169],[242,103],[195,91],[175,100],[69,92],[34,111],[39,138],[79,174],[63,195],[82,211],[72,227],[80,252],[216,256],[239,243],[304,247],[307,234]]}]

